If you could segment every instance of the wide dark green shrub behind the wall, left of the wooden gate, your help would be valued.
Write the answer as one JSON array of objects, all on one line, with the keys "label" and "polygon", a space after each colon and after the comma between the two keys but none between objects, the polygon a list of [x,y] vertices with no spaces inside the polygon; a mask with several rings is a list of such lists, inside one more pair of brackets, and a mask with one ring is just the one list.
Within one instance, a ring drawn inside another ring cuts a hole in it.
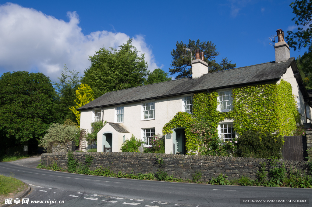
[{"label": "wide dark green shrub behind the wall, left of the wooden gate", "polygon": [[282,157],[283,137],[245,131],[237,139],[237,154],[240,157],[270,158]]}]

